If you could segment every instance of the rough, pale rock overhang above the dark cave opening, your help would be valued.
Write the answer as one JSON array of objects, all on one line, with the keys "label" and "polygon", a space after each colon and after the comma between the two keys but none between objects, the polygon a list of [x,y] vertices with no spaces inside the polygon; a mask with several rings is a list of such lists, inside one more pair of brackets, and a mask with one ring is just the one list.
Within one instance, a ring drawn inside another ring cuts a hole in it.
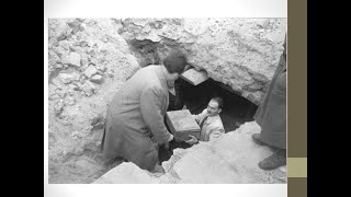
[{"label": "rough, pale rock overhang above the dark cave opening", "polygon": [[286,33],[286,19],[125,19],[121,24],[120,34],[138,45],[141,56],[157,54],[151,62],[171,48],[183,50],[191,66],[258,105]]}]

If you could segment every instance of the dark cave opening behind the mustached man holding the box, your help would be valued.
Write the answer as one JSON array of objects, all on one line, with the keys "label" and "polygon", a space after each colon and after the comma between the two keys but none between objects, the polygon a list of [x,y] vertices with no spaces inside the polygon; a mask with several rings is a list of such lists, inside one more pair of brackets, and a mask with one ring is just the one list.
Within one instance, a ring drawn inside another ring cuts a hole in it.
[{"label": "dark cave opening behind the mustached man holding the box", "polygon": [[[208,79],[197,85],[193,85],[182,78],[176,81],[176,89],[182,100],[182,104],[191,114],[200,114],[213,96],[224,100],[224,108],[219,114],[225,131],[233,131],[246,121],[252,121],[258,106],[247,99],[223,88],[225,84]],[[229,89],[229,88],[228,88]]]}]

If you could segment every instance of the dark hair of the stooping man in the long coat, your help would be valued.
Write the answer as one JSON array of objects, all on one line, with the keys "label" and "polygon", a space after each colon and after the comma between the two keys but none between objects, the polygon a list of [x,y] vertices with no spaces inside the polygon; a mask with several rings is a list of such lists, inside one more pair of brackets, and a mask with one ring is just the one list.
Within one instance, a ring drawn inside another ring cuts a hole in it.
[{"label": "dark hair of the stooping man in the long coat", "polygon": [[172,50],[165,59],[163,65],[169,73],[182,73],[184,71],[186,57],[180,50]]}]

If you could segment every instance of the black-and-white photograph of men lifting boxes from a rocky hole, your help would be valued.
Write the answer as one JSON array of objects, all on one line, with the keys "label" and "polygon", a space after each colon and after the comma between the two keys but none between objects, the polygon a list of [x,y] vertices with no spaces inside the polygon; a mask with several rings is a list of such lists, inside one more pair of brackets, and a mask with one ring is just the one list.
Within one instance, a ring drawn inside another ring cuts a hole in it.
[{"label": "black-and-white photograph of men lifting boxes from a rocky hole", "polygon": [[48,184],[287,184],[287,18],[46,25]]}]

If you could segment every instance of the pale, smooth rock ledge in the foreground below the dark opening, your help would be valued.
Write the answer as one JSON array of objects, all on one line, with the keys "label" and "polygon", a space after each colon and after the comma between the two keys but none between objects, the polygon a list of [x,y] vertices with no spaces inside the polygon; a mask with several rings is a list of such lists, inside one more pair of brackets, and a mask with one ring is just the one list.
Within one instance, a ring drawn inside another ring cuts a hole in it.
[{"label": "pale, smooth rock ledge in the foreground below the dark opening", "polygon": [[166,171],[162,175],[151,174],[128,162],[114,167],[94,183],[286,183],[286,173],[281,169],[259,169],[258,162],[271,155],[272,151],[251,140],[251,135],[257,132],[260,132],[260,127],[250,121],[216,140],[200,142],[189,149],[176,149],[172,158],[162,163]]}]

